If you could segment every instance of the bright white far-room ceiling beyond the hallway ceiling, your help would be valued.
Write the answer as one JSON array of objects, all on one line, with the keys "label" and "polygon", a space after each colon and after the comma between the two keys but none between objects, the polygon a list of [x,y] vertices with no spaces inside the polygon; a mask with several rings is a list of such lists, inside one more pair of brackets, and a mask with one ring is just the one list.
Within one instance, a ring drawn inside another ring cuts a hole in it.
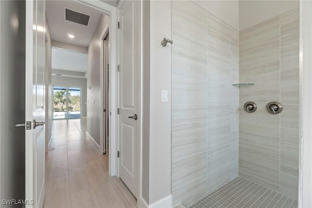
[{"label": "bright white far-room ceiling beyond the hallway ceiling", "polygon": [[52,68],[66,71],[85,72],[88,55],[52,47]]}]

